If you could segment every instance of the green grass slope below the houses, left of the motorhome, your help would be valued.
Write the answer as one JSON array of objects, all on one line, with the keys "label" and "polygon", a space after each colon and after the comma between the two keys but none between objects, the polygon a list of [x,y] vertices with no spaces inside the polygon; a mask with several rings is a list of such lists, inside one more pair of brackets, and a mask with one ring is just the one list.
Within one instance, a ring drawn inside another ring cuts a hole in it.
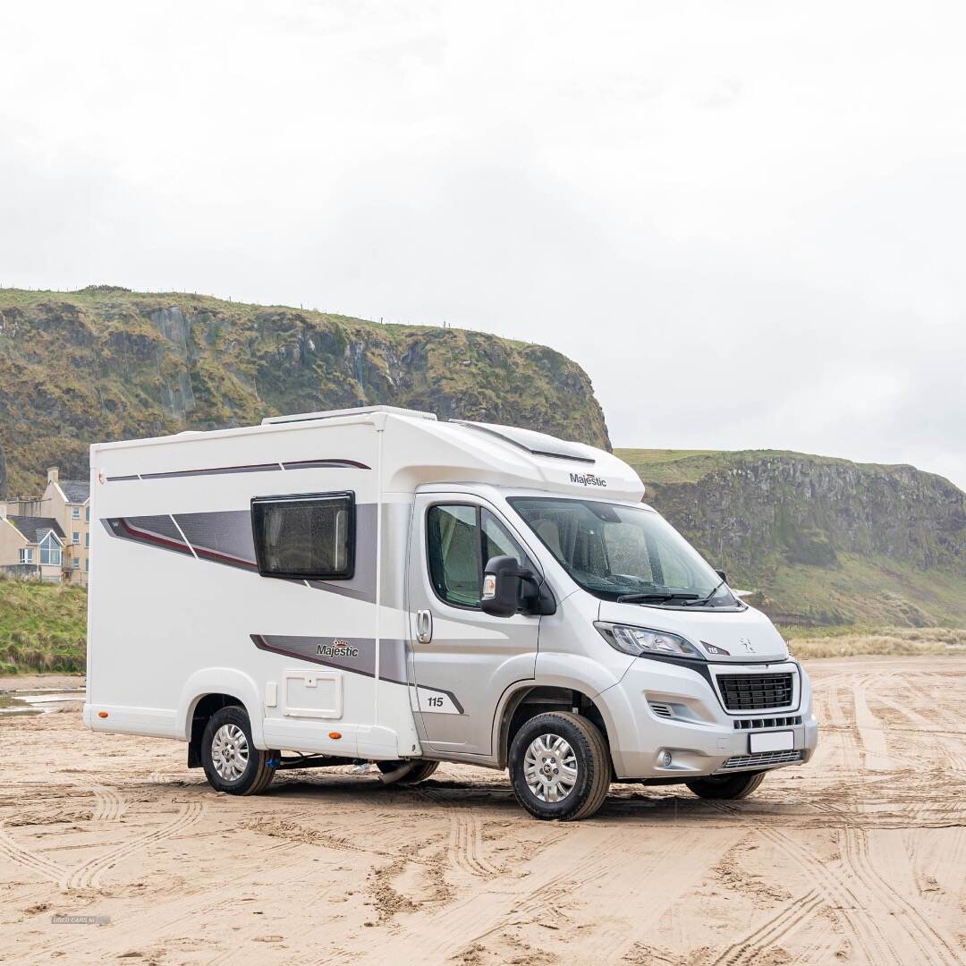
[{"label": "green grass slope below the houses, left of the motorhome", "polygon": [[0,674],[83,671],[87,591],[0,579]]}]

